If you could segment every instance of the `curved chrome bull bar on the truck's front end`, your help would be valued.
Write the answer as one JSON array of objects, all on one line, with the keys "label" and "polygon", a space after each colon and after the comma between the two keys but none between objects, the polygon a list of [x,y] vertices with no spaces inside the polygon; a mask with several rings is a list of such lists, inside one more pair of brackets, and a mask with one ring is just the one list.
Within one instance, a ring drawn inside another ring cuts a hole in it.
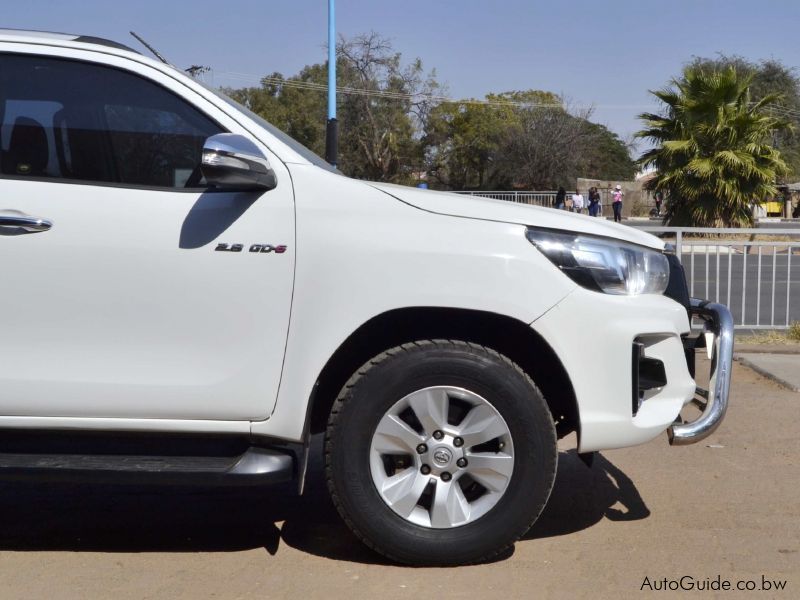
[{"label": "curved chrome bull bar on the truck's front end", "polygon": [[694,444],[711,435],[722,422],[728,410],[728,394],[733,364],[733,317],[727,306],[707,300],[692,298],[689,314],[705,321],[706,330],[714,334],[711,355],[711,377],[708,390],[697,389],[705,399],[702,414],[688,423],[675,423],[668,430],[673,446]]}]

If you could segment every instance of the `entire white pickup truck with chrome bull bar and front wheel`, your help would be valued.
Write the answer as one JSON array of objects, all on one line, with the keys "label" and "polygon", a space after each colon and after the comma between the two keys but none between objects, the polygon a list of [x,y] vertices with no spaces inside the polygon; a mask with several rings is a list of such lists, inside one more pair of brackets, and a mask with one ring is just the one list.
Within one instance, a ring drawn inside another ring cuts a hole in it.
[{"label": "entire white pickup truck with chrome bull bar and front wheel", "polygon": [[349,179],[97,38],[0,30],[0,261],[0,478],[302,491],[324,433],[333,502],[399,562],[508,548],[559,437],[687,444],[727,405],[730,313],[661,240]]}]

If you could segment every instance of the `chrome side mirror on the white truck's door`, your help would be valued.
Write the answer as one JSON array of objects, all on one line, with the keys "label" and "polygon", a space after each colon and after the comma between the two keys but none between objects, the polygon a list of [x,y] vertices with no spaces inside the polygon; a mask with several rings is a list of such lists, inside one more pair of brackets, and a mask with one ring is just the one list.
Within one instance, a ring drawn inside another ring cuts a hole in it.
[{"label": "chrome side mirror on the white truck's door", "polygon": [[278,184],[258,146],[236,133],[219,133],[206,140],[200,170],[209,185],[223,190],[271,190]]}]

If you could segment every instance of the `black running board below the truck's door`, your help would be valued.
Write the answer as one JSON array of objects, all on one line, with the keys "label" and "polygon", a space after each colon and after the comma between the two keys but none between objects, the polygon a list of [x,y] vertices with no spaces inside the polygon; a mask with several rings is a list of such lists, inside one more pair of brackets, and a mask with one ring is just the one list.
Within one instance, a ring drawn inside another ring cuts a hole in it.
[{"label": "black running board below the truck's door", "polygon": [[239,456],[0,453],[0,480],[261,485],[294,477],[294,454],[250,447]]}]

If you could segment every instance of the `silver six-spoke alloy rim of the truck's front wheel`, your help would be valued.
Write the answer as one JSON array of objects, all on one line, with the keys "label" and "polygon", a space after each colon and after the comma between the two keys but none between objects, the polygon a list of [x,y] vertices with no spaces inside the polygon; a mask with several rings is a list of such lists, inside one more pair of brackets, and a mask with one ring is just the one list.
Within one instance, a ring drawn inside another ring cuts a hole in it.
[{"label": "silver six-spoke alloy rim of the truck's front wheel", "polygon": [[503,497],[514,470],[505,419],[482,396],[454,386],[398,400],[378,422],[369,458],[386,505],[433,529],[481,518]]}]

